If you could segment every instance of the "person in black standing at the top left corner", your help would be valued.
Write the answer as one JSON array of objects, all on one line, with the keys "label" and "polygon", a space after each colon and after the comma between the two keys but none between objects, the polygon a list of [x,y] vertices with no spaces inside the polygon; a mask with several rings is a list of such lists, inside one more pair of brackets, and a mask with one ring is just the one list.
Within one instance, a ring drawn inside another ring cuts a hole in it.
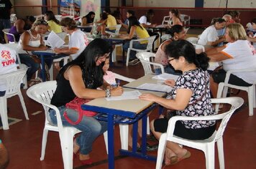
[{"label": "person in black standing at the top left corner", "polygon": [[12,9],[12,3],[9,0],[0,0],[0,39],[4,44],[4,32],[3,29],[11,28],[10,14]]}]

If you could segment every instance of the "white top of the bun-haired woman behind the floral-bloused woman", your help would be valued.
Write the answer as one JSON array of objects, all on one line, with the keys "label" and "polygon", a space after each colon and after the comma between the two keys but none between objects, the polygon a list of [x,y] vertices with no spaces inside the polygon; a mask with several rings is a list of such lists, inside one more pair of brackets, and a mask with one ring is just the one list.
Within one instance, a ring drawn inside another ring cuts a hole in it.
[{"label": "white top of the bun-haired woman behind the floral-bloused woman", "polygon": [[207,45],[207,42],[215,42],[218,39],[218,32],[214,25],[211,25],[200,35],[197,43],[205,46]]}]

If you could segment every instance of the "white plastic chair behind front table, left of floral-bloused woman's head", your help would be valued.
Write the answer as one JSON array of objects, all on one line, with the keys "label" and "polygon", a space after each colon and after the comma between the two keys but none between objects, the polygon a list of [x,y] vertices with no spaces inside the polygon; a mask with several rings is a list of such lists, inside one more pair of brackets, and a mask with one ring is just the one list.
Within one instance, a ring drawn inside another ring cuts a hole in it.
[{"label": "white plastic chair behind front table, left of floral-bloused woman's head", "polygon": [[[138,59],[140,59],[140,62],[142,63],[142,67],[144,69],[144,73],[146,74],[154,74],[154,72],[152,71],[152,67],[151,65],[155,65],[157,67],[161,68],[161,72],[164,73],[165,69],[163,67],[162,64],[159,63],[155,63],[155,54],[152,52],[139,52],[136,54],[136,57]],[[153,61],[151,61],[150,59],[153,59]]]}]

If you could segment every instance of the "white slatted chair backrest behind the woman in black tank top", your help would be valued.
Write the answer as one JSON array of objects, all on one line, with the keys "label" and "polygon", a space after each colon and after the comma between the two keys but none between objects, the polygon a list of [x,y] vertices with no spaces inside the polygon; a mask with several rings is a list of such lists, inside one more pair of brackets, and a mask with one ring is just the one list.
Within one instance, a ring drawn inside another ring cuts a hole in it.
[{"label": "white slatted chair backrest behind the woman in black tank top", "polygon": [[55,107],[54,105],[50,105],[50,101],[52,100],[52,96],[56,90],[56,87],[57,87],[56,81],[47,81],[47,82],[41,82],[39,84],[35,84],[32,87],[29,87],[29,89],[27,90],[28,97],[42,104],[42,107],[45,110],[45,120],[48,123],[50,123],[48,110],[50,108],[57,109],[57,107]]}]

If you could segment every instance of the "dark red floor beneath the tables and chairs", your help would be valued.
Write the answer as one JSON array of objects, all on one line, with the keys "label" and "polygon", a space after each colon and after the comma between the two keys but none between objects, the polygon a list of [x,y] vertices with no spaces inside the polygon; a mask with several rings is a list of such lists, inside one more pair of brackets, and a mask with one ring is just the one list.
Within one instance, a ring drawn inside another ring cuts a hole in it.
[{"label": "dark red floor beneath the tables and chairs", "polygon": [[[115,64],[111,70],[133,78],[142,77],[144,74],[141,64],[129,67],[123,67],[122,64]],[[9,130],[0,130],[1,140],[9,150],[10,163],[8,168],[63,168],[60,141],[58,133],[55,132],[49,133],[45,160],[40,161],[45,116],[42,113],[42,106],[30,100],[26,95],[26,90],[23,90],[22,94],[27,105],[29,120],[25,120],[24,118],[18,97],[13,97],[8,100],[9,117],[22,119],[22,121],[11,125]],[[245,92],[240,92],[239,96],[244,97],[244,102],[247,103]],[[38,111],[41,112],[33,115],[34,112]],[[156,111],[150,115],[150,119],[157,117]],[[255,115],[249,117],[248,107],[244,105],[229,120],[227,129],[224,132],[224,155],[225,167],[227,169],[256,168],[256,111],[254,112]],[[155,168],[155,162],[119,156],[120,140],[118,126],[115,128],[115,138],[116,168]],[[191,151],[191,158],[166,168],[205,168],[204,153],[191,148],[188,148],[188,150]],[[156,154],[156,152],[152,152],[152,155]],[[94,162],[91,166],[81,166],[78,159],[74,159],[74,168],[108,168],[103,136],[99,137],[93,144],[91,158]],[[215,155],[215,159],[216,168],[219,168],[217,155]]]}]

